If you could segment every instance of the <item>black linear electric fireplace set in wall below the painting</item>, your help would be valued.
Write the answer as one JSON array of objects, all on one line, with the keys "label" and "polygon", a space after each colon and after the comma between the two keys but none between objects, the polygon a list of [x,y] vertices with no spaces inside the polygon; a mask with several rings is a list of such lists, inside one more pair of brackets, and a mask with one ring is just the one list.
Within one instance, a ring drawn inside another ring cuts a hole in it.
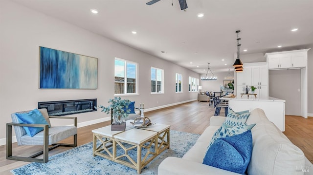
[{"label": "black linear electric fireplace set in wall below the painting", "polygon": [[38,109],[46,108],[49,116],[66,116],[97,111],[97,98],[38,102]]}]

